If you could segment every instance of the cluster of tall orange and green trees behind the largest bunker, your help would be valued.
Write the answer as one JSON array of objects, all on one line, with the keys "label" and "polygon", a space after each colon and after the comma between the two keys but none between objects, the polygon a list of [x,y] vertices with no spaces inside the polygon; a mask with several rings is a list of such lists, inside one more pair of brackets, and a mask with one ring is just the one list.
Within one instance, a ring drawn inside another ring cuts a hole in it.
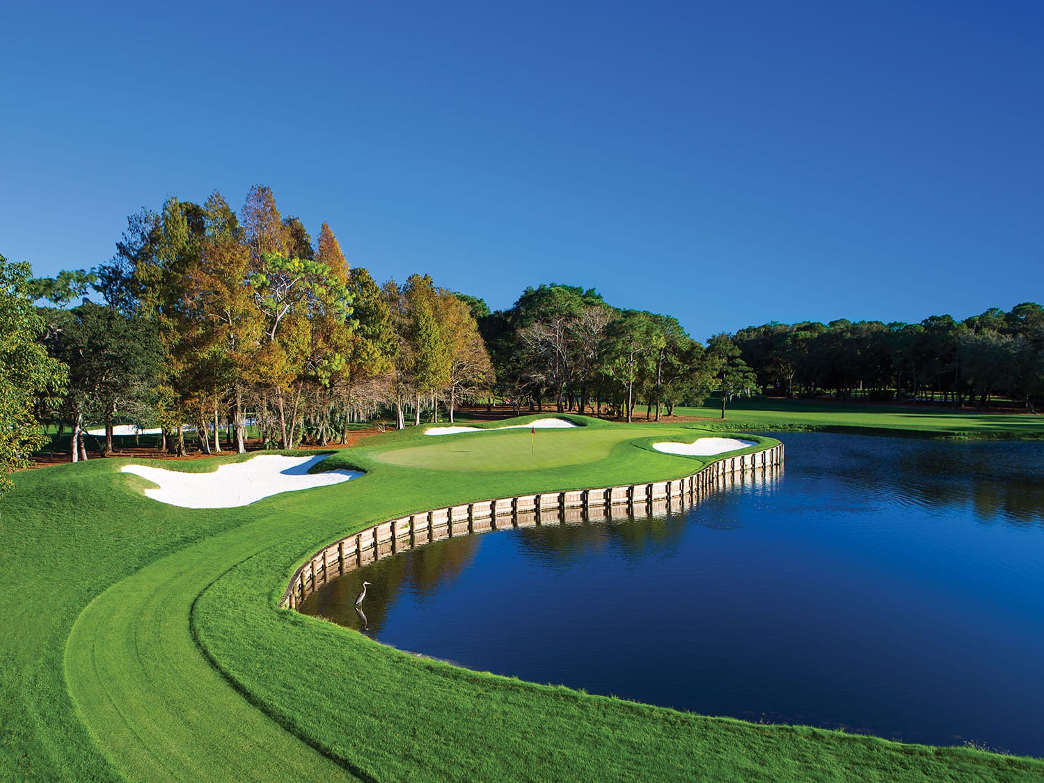
[{"label": "cluster of tall orange and green trees behind the largest bunker", "polygon": [[[92,291],[102,304],[68,306]],[[493,382],[464,300],[427,276],[379,286],[328,224],[313,243],[262,186],[238,215],[219,193],[143,210],[110,262],[25,280],[22,293],[53,305],[25,329],[62,367],[61,394],[28,390],[39,421],[71,431],[73,461],[88,456],[88,423],[104,424],[102,453],[119,421],[161,428],[179,454],[187,428],[205,453],[245,451],[248,424],[290,449],[345,441],[379,409],[400,427],[440,403],[452,419]]]}]

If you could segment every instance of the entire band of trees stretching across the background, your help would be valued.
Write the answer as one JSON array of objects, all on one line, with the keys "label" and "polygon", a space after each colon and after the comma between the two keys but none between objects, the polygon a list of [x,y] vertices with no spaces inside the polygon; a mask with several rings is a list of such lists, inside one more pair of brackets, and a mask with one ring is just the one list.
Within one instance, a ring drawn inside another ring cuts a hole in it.
[{"label": "entire band of trees stretching across the background", "polygon": [[[94,299],[100,298],[100,302]],[[46,306],[37,303],[46,302]],[[73,305],[73,303],[78,303]],[[542,284],[506,310],[427,275],[378,284],[348,263],[323,223],[313,241],[255,186],[238,214],[214,192],[132,215],[113,258],[33,278],[0,257],[4,363],[0,474],[87,425],[162,428],[165,448],[245,450],[247,422],[269,448],[325,446],[378,419],[453,421],[461,402],[631,421],[717,394],[939,401],[1036,410],[1044,393],[1044,308],[1023,303],[919,324],[768,323],[706,342],[671,315],[627,310],[594,289]],[[223,433],[223,443],[222,443]]]}]

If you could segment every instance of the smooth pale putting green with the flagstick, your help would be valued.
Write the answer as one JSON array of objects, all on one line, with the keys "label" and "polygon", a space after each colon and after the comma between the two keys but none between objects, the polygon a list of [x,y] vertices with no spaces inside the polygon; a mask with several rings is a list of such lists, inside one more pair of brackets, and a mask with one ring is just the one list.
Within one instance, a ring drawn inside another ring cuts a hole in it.
[{"label": "smooth pale putting green with the flagstick", "polygon": [[[437,435],[435,443],[387,451],[380,459],[404,468],[445,471],[520,471],[583,465],[609,456],[613,446],[636,432],[619,429],[527,429]],[[449,438],[452,438],[450,441]]]}]

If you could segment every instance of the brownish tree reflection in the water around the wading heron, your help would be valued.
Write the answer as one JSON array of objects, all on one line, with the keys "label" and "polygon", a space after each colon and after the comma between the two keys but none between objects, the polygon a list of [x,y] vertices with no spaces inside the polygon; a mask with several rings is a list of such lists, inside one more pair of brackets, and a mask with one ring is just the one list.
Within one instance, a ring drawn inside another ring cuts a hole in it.
[{"label": "brownish tree reflection in the water around the wading heron", "polygon": [[[376,635],[384,627],[388,611],[403,590],[421,597],[434,596],[460,577],[475,559],[477,548],[475,536],[426,544],[331,579],[302,602],[300,610]],[[355,596],[362,589],[363,579],[371,583],[362,606],[365,614],[357,614]]]}]

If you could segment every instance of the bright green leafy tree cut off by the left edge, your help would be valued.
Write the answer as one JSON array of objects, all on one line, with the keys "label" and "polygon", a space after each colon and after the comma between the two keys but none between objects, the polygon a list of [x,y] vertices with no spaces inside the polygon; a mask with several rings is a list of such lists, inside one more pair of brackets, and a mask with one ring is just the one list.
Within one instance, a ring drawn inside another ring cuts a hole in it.
[{"label": "bright green leafy tree cut off by the left edge", "polygon": [[68,380],[67,367],[47,355],[39,338],[44,319],[32,306],[31,269],[0,256],[0,494],[7,474],[28,467],[28,456],[47,440],[34,416],[39,398],[54,401]]}]

